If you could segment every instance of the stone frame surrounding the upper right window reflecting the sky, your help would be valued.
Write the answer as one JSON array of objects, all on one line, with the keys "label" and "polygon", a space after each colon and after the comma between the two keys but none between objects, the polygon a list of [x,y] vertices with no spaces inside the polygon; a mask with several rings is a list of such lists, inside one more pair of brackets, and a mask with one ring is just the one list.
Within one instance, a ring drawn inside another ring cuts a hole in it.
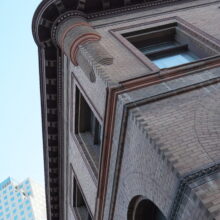
[{"label": "stone frame surrounding the upper right window reflecting the sky", "polygon": [[[132,32],[135,31],[144,31],[149,29],[158,28],[160,30],[160,26],[167,27],[171,25],[178,25],[180,27],[180,30],[184,31],[189,38],[195,40],[198,42],[198,46],[202,47],[204,50],[209,49],[215,51],[215,55],[207,56],[205,58],[201,58],[199,60],[161,69],[157,65],[155,65],[148,57],[146,57],[137,47],[135,47],[132,43],[130,43],[126,37],[123,35],[132,34]],[[207,34],[206,32],[200,30],[199,28],[195,27],[194,25],[186,22],[184,19],[173,16],[168,18],[162,18],[158,20],[153,20],[145,23],[130,25],[130,26],[123,26],[115,29],[109,30],[109,32],[118,40],[120,41],[137,59],[139,59],[142,63],[144,63],[151,71],[152,74],[154,73],[163,73],[167,72],[167,70],[176,70],[184,69],[184,71],[187,71],[188,69],[191,69],[192,66],[196,69],[200,69],[202,65],[209,65],[209,63],[212,63],[212,60],[217,58],[220,58],[220,40],[214,38],[213,36]],[[197,65],[198,64],[198,65]],[[201,65],[199,65],[201,64]]]}]

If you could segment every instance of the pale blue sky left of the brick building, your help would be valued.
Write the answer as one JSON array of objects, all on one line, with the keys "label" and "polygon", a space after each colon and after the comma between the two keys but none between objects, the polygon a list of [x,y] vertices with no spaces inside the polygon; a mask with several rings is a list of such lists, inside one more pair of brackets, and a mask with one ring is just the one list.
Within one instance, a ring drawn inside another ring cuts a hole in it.
[{"label": "pale blue sky left of the brick building", "polygon": [[0,181],[44,182],[37,47],[32,17],[40,0],[0,6]]}]

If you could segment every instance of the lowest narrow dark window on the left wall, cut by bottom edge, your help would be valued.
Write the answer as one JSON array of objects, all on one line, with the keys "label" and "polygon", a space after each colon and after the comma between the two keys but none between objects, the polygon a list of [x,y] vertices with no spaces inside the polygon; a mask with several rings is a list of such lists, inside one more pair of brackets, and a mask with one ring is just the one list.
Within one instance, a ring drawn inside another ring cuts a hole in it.
[{"label": "lowest narrow dark window on the left wall, cut by bottom edge", "polygon": [[92,220],[83,195],[79,189],[76,179],[73,177],[73,200],[72,205],[79,219]]}]

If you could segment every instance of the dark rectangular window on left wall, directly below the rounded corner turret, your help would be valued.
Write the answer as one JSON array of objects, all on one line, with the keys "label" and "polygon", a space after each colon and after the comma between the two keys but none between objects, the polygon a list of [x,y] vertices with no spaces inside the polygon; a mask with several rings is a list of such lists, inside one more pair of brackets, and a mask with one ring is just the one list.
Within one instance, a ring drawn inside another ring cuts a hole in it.
[{"label": "dark rectangular window on left wall, directly below the rounded corner turret", "polygon": [[101,125],[77,87],[75,132],[88,161],[97,170],[101,145]]}]

